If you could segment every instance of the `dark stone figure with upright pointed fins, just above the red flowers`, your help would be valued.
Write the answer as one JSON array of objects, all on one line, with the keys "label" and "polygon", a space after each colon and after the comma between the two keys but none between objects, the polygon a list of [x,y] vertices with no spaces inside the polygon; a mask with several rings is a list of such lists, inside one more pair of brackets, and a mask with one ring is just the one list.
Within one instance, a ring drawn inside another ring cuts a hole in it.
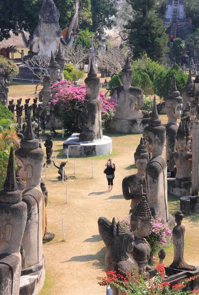
[{"label": "dark stone figure with upright pointed fins, just above the red flowers", "polygon": [[[113,270],[117,273],[138,269],[136,261],[133,259],[134,236],[128,230],[121,227],[120,222],[116,223],[115,218],[110,222],[105,217],[98,219],[99,234],[106,246],[105,270]],[[118,295],[115,288],[113,295]],[[120,293],[119,293],[120,294]]]}]

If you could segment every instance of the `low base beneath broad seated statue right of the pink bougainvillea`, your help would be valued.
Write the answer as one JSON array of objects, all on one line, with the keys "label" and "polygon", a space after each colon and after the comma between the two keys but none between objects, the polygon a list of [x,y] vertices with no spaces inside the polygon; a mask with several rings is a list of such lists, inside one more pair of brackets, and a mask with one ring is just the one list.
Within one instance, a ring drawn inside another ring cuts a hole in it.
[{"label": "low base beneath broad seated statue right of the pink bougainvillea", "polygon": [[149,118],[145,119],[116,119],[112,118],[105,122],[105,130],[119,133],[143,133],[144,127],[148,126]]}]

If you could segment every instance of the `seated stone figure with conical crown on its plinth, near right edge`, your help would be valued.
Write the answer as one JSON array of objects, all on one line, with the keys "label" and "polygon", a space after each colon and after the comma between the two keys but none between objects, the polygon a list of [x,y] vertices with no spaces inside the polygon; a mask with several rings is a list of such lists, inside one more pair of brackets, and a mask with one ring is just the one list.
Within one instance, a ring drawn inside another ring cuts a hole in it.
[{"label": "seated stone figure with conical crown on its plinth, near right edge", "polygon": [[190,129],[188,122],[180,122],[175,137],[176,151],[169,156],[169,171],[176,167],[176,179],[168,179],[168,192],[175,196],[190,196],[192,188],[192,152],[190,152]]}]

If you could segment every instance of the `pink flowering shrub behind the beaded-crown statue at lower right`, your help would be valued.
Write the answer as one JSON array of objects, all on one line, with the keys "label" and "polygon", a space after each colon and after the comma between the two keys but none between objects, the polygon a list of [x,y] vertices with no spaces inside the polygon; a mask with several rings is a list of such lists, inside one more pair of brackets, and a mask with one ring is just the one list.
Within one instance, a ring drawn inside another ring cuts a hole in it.
[{"label": "pink flowering shrub behind the beaded-crown statue at lower right", "polygon": [[[121,225],[127,230],[131,229],[130,226],[130,217],[119,218]],[[152,260],[156,259],[157,252],[163,247],[163,245],[168,244],[170,236],[172,235],[172,230],[170,229],[168,223],[164,223],[161,218],[152,219],[152,229],[149,236],[146,237],[146,240],[150,244],[151,253],[149,263]]]}]

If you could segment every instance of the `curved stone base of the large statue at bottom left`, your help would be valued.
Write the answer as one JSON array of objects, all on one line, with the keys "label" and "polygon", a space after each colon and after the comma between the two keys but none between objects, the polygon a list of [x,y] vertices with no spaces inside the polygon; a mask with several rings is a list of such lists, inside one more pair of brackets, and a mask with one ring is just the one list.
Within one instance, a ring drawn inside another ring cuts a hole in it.
[{"label": "curved stone base of the large statue at bottom left", "polygon": [[45,281],[44,256],[35,266],[22,269],[19,295],[39,295]]}]

